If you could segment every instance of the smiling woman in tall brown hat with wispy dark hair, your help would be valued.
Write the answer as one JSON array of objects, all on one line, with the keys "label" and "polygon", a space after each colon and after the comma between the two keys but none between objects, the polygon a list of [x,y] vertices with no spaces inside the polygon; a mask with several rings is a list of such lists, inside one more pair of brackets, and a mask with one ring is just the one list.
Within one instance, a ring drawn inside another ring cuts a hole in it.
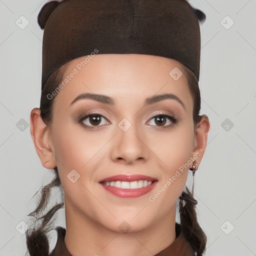
[{"label": "smiling woman in tall brown hat with wispy dark hair", "polygon": [[[40,108],[30,130],[42,187],[26,231],[28,252],[48,255],[202,255],[206,236],[185,186],[207,142],[199,115],[200,31],[185,0],[46,3]],[[53,187],[63,201],[44,212]],[[176,203],[180,224],[175,222]]]}]

